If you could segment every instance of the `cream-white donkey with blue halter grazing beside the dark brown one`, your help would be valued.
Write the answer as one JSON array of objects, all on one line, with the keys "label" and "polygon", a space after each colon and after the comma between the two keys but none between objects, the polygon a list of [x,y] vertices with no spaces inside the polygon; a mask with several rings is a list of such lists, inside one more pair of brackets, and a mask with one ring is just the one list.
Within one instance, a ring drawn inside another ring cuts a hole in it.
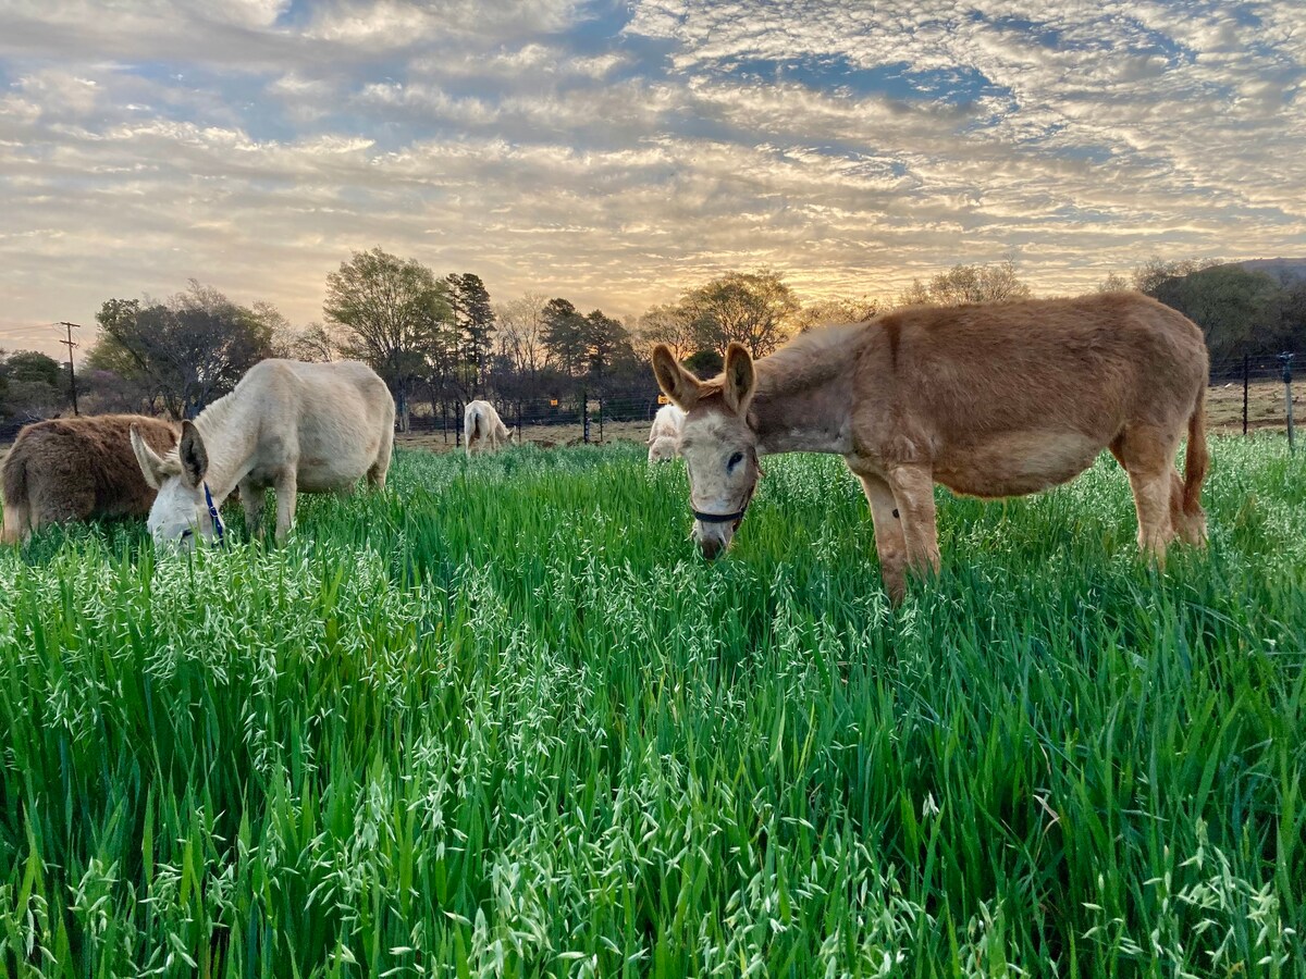
[{"label": "cream-white donkey with blue halter grazing beside the dark brown one", "polygon": [[196,530],[222,539],[218,509],[234,489],[251,534],[263,534],[268,487],[277,491],[277,543],[295,520],[295,495],[347,492],[362,476],[385,486],[394,448],[394,399],[367,364],[263,360],[159,457],[132,431],[145,480],[159,493],[149,527],[155,546],[195,547]]}]

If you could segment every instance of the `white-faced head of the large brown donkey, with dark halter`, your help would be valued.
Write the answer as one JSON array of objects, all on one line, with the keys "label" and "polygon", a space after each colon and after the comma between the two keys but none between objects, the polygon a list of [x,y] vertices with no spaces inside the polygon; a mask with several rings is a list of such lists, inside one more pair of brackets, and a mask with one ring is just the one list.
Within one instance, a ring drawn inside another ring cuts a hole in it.
[{"label": "white-faced head of the large brown donkey, with dark halter", "polygon": [[748,427],[757,375],[739,343],[726,347],[725,371],[712,381],[686,371],[661,343],[653,350],[653,373],[684,411],[679,448],[690,473],[692,536],[710,560],[730,547],[761,476],[757,433]]}]

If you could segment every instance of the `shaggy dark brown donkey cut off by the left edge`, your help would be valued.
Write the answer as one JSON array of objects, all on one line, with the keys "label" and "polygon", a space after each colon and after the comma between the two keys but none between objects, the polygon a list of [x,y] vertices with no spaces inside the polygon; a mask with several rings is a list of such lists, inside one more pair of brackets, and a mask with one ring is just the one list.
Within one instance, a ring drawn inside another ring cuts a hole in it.
[{"label": "shaggy dark brown donkey cut off by the left edge", "polygon": [[176,428],[144,415],[91,415],[37,422],[18,432],[4,461],[4,531],[16,544],[47,523],[93,517],[144,517],[154,503],[132,452],[137,426],[158,452]]}]

